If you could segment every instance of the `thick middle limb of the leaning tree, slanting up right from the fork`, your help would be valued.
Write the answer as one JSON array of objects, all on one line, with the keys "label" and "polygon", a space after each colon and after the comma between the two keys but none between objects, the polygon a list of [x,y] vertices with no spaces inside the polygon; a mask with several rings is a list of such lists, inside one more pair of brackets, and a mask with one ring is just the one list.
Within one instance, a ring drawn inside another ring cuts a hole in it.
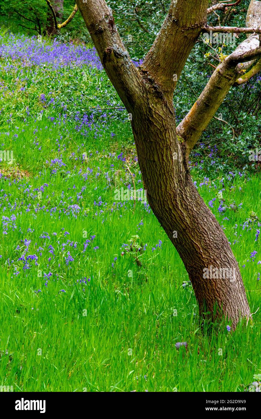
[{"label": "thick middle limb of the leaning tree, slanting up right from the fork", "polygon": [[189,5],[187,0],[171,0],[161,30],[141,66],[160,85],[169,102],[173,100],[175,82],[206,24],[207,6],[208,0],[190,0]]}]

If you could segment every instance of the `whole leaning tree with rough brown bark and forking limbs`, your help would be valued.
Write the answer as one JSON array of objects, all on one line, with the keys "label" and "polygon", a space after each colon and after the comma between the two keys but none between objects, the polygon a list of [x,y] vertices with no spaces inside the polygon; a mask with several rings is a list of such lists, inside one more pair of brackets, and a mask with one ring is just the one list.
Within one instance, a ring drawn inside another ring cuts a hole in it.
[{"label": "whole leaning tree with rough brown bark and forking limbs", "polygon": [[[241,316],[251,316],[241,273],[222,228],[192,182],[188,158],[230,87],[258,71],[261,1],[251,0],[246,28],[207,26],[208,14],[240,2],[208,8],[209,0],[171,0],[154,44],[136,68],[105,0],[76,0],[102,65],[132,115],[148,202],[187,269],[200,314],[208,312],[212,318],[223,314],[233,328]],[[210,30],[250,35],[220,63],[176,128],[177,80],[198,37]],[[243,74],[242,69],[249,71]]]}]

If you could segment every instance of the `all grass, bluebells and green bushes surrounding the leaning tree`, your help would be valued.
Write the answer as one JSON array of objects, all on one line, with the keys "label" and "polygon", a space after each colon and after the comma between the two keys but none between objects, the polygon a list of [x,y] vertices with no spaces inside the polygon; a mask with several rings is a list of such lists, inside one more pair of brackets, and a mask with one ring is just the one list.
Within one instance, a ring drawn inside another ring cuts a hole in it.
[{"label": "all grass, bluebells and green bushes surrounding the leaning tree", "polygon": [[[207,334],[177,252],[148,203],[128,199],[143,191],[128,114],[82,18],[56,38],[37,36],[30,22],[30,30],[18,26],[15,10],[38,16],[43,33],[47,6],[29,3],[32,10],[15,0],[0,6],[0,142],[12,150],[0,163],[0,384],[243,391],[261,379],[261,174],[248,159],[260,148],[260,75],[231,90],[219,110],[227,123],[213,120],[191,155],[194,182],[229,238],[251,313],[258,310],[247,328],[232,334],[224,323]],[[136,12],[132,2],[108,3],[138,65],[168,2],[137,1]],[[239,25],[248,3],[222,19]],[[66,16],[73,5],[64,1]],[[175,93],[178,122],[209,64],[231,50],[197,42]],[[182,341],[188,347],[177,351]]]}]

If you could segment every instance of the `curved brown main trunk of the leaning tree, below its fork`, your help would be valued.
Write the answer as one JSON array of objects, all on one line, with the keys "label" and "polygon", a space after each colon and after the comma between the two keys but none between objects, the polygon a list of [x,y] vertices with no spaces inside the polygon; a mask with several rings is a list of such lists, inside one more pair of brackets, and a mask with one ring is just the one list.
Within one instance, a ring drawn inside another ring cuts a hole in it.
[{"label": "curved brown main trunk of the leaning tree, below its fork", "polygon": [[[148,202],[187,269],[200,314],[207,309],[214,318],[217,304],[235,327],[240,316],[250,316],[238,263],[192,182],[184,142],[176,135],[174,108],[152,95],[132,118]],[[204,278],[204,269],[211,272],[210,266],[212,272],[222,271]]]}]

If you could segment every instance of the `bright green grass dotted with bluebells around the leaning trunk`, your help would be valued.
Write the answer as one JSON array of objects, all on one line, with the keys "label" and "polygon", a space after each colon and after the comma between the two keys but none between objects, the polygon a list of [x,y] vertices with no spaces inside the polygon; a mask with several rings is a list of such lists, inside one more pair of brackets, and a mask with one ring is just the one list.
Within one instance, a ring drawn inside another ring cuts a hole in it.
[{"label": "bright green grass dotted with bluebells around the leaning trunk", "polygon": [[[19,103],[16,93],[5,99],[8,109]],[[31,97],[32,109],[38,94]],[[206,204],[216,198],[212,211],[241,268],[251,313],[258,310],[253,322],[240,323],[234,333],[225,320],[211,329],[200,323],[192,287],[182,287],[188,281],[184,266],[149,207],[115,201],[115,189],[132,187],[128,168],[136,188],[142,187],[129,123],[119,117],[97,120],[84,136],[73,119],[54,124],[59,109],[47,111],[36,121],[23,122],[19,112],[10,122],[5,116],[1,129],[2,150],[13,150],[14,162],[0,166],[7,175],[0,180],[0,211],[8,218],[0,231],[0,385],[13,385],[14,391],[243,391],[261,373],[258,221],[243,229],[253,212],[261,216],[260,175],[214,172],[200,186],[204,166],[192,170]],[[55,158],[65,166],[51,165]],[[11,166],[26,176],[8,177]],[[222,187],[224,214],[218,211]],[[233,202],[235,211],[229,207]],[[77,214],[70,209],[74,204]],[[43,232],[49,238],[42,238]],[[121,254],[123,243],[136,235],[138,247],[147,245],[141,266],[135,252]],[[74,260],[67,265],[68,251]],[[258,253],[252,261],[253,251]],[[23,254],[36,254],[37,265],[29,259],[23,269]],[[84,277],[90,282],[79,283]],[[187,341],[187,349],[177,350],[178,341]]]}]

